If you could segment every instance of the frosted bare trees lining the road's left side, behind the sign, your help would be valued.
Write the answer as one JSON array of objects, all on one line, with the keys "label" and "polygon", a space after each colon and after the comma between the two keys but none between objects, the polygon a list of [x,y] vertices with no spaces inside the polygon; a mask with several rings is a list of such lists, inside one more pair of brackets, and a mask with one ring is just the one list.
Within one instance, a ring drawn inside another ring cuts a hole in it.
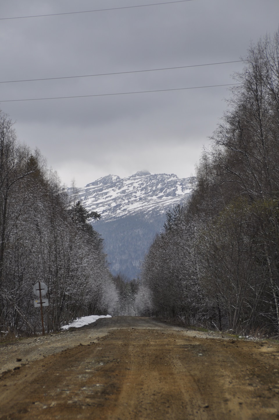
[{"label": "frosted bare trees lining the road's left side, behind the sign", "polygon": [[87,223],[98,217],[70,203],[56,173],[17,141],[0,111],[0,332],[41,331],[37,281],[48,287],[47,331],[113,310],[118,292],[100,236]]}]

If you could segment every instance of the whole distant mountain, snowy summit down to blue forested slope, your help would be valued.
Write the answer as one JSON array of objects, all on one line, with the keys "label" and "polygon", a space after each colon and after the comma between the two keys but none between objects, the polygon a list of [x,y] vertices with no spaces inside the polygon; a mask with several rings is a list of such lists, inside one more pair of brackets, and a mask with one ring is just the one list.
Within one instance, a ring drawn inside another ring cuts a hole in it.
[{"label": "whole distant mountain, snowy summit down to blue forested slope", "polygon": [[180,179],[174,174],[140,171],[126,178],[104,176],[75,189],[76,200],[102,216],[92,223],[105,238],[113,274],[137,276],[140,260],[163,228],[166,211],[186,202],[194,184],[195,177]]}]

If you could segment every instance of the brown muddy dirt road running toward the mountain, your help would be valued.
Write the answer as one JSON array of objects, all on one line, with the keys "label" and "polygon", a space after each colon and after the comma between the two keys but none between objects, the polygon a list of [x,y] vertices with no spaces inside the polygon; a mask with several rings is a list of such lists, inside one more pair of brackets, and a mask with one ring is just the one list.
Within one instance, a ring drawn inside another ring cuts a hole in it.
[{"label": "brown muddy dirt road running toward the mountain", "polygon": [[0,346],[0,360],[11,369],[1,420],[279,418],[279,345],[269,342],[115,317]]}]

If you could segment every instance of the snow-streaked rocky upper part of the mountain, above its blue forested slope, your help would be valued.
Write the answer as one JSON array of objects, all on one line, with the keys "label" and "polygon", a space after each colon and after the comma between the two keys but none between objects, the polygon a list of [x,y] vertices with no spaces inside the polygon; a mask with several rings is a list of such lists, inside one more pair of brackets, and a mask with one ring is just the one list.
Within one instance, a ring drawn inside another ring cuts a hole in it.
[{"label": "snow-streaked rocky upper part of the mountain, above its blue forested slope", "polygon": [[104,176],[77,188],[75,194],[87,210],[97,211],[108,221],[136,213],[165,213],[184,201],[194,184],[195,177],[180,179],[173,173],[139,171],[127,178]]}]

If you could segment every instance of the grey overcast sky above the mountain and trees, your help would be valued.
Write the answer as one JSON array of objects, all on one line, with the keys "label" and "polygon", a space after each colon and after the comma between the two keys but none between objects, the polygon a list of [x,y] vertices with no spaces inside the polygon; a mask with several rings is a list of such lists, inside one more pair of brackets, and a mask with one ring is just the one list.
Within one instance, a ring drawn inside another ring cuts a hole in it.
[{"label": "grey overcast sky above the mountain and trees", "polygon": [[[161,0],[164,1],[164,0]],[[165,0],[166,1],[166,0]],[[160,0],[1,0],[0,18],[159,3]],[[0,20],[0,81],[81,76],[239,60],[276,32],[278,0],[192,0],[110,11]],[[0,83],[0,108],[18,139],[61,178],[84,186],[142,169],[195,172],[243,63],[72,79]]]}]

